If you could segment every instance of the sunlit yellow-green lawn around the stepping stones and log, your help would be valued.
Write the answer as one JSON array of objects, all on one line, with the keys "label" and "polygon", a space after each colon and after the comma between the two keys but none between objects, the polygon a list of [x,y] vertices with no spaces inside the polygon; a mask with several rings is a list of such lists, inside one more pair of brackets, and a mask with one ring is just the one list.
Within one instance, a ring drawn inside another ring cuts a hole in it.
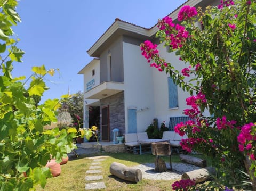
[{"label": "sunlit yellow-green lawn around the stepping stones and log", "polygon": [[[102,154],[101,154],[102,155]],[[105,182],[105,190],[172,190],[172,183],[176,180],[148,180],[143,179],[137,184],[127,182],[119,179],[109,172],[109,167],[112,162],[119,162],[127,166],[135,166],[143,163],[154,163],[155,156],[152,154],[134,155],[130,153],[116,153],[116,154],[105,154],[106,160],[102,162],[102,175],[103,181]],[[202,156],[201,156],[202,157]],[[169,162],[169,157],[163,157],[166,162]],[[180,162],[179,155],[172,155],[172,162]],[[82,159],[68,161],[67,164],[61,165],[61,175],[47,179],[45,189],[36,187],[36,190],[85,190],[86,171],[92,163],[90,156]],[[87,175],[88,176],[88,175]],[[90,181],[93,182],[93,181]],[[94,181],[97,182],[97,181]],[[99,180],[98,180],[99,182]]]}]

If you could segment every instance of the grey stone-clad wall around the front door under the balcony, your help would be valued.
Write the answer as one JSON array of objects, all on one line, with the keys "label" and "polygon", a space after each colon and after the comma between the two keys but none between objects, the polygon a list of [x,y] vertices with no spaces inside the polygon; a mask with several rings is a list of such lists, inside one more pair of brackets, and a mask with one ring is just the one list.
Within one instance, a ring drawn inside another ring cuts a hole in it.
[{"label": "grey stone-clad wall around the front door under the balcony", "polygon": [[[120,135],[125,134],[125,113],[124,113],[124,92],[117,93],[113,96],[109,96],[105,99],[101,99],[100,107],[109,105],[109,137],[110,141],[112,138],[112,130],[118,128],[120,130]],[[101,109],[100,109],[101,114]],[[101,119],[100,119],[101,127]],[[101,132],[102,133],[102,132]]]}]

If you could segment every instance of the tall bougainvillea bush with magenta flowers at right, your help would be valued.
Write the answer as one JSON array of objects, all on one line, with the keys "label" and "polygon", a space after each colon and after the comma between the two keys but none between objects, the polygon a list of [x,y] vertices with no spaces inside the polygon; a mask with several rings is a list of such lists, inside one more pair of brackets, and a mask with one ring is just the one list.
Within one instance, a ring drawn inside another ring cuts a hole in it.
[{"label": "tall bougainvillea bush with magenta flowers at right", "polygon": [[184,114],[192,120],[175,131],[188,135],[183,149],[214,159],[217,177],[209,187],[256,189],[255,11],[255,1],[229,0],[204,12],[183,6],[178,23],[159,20],[156,37],[187,64],[181,71],[161,58],[156,44],[141,44],[150,66],[191,94]]}]

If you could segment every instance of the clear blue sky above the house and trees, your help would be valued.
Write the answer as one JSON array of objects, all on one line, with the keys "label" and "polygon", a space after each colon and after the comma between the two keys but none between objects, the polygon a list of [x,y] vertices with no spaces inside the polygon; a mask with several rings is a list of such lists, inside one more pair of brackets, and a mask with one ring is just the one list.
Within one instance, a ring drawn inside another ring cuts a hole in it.
[{"label": "clear blue sky above the house and trees", "polygon": [[17,46],[26,53],[23,63],[15,63],[13,76],[28,77],[35,65],[58,68],[54,77],[46,77],[50,89],[42,102],[60,98],[68,88],[71,94],[83,92],[83,76],[77,73],[92,60],[86,51],[115,18],[150,28],[185,1],[20,0],[22,22],[13,29],[21,39]]}]

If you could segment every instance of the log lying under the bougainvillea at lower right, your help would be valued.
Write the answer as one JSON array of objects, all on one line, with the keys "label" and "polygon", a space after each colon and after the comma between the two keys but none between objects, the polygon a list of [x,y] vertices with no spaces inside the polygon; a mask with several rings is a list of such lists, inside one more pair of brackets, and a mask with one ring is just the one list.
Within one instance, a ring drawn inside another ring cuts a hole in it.
[{"label": "log lying under the bougainvillea at lower right", "polygon": [[194,182],[197,184],[199,182],[206,181],[208,179],[211,179],[212,176],[216,175],[215,168],[213,167],[206,167],[202,169],[193,170],[190,172],[183,173],[181,176],[182,180],[194,180]]}]

